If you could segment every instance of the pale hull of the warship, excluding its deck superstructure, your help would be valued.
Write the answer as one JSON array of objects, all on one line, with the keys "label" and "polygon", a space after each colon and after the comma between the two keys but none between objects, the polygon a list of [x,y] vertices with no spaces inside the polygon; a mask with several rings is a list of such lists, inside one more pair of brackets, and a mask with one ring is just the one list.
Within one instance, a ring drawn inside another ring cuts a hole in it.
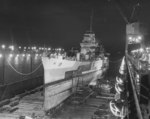
[{"label": "pale hull of the warship, excluding its deck superstructure", "polygon": [[[104,63],[101,59],[92,62],[79,62],[43,58],[42,61],[45,81],[45,111],[57,107],[70,97],[76,91],[77,85],[88,85],[104,73]],[[62,67],[60,65],[59,67],[53,66],[54,64],[58,66],[60,63]]]}]

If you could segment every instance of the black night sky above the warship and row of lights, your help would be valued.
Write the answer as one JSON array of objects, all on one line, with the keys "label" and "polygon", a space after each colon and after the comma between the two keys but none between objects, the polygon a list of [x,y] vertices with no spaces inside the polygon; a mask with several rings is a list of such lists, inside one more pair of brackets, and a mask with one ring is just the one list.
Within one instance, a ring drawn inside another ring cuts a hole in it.
[{"label": "black night sky above the warship and row of lights", "polygon": [[[126,23],[119,9],[130,18],[150,25],[149,0],[0,0],[0,43],[79,47],[89,30],[92,9],[93,31],[107,52],[123,53]],[[116,7],[119,6],[119,7]],[[119,9],[118,9],[119,8]]]}]

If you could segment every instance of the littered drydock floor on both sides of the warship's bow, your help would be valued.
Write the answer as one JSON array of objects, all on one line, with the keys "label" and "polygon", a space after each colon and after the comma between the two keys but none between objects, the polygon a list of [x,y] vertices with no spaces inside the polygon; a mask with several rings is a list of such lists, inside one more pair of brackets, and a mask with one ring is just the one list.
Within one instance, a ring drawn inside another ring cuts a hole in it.
[{"label": "littered drydock floor on both sides of the warship's bow", "polygon": [[[10,103],[3,105],[1,119],[116,119],[109,108],[114,94],[104,90],[97,93],[89,87],[79,88],[75,94],[60,105],[57,111],[45,114],[42,87],[16,96]],[[109,92],[109,93],[108,93]]]}]

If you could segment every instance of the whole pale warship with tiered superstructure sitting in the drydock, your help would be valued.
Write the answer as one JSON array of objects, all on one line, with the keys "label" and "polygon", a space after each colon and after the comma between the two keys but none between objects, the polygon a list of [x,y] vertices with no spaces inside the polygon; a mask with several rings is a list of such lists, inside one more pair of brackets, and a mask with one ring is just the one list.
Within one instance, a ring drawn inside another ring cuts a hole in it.
[{"label": "whole pale warship with tiered superstructure sitting in the drydock", "polygon": [[74,58],[59,54],[43,55],[45,111],[57,108],[74,94],[79,84],[88,85],[96,81],[108,69],[109,59],[92,31],[84,34],[80,46],[80,52]]}]

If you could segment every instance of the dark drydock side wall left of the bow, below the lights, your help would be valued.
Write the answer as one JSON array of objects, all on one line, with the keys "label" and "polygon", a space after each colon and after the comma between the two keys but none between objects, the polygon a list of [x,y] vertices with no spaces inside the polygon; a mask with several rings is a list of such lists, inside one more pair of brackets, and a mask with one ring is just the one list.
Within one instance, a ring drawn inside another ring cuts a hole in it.
[{"label": "dark drydock side wall left of the bow, below the lights", "polygon": [[5,54],[0,58],[0,100],[11,98],[43,84],[41,56]]}]

